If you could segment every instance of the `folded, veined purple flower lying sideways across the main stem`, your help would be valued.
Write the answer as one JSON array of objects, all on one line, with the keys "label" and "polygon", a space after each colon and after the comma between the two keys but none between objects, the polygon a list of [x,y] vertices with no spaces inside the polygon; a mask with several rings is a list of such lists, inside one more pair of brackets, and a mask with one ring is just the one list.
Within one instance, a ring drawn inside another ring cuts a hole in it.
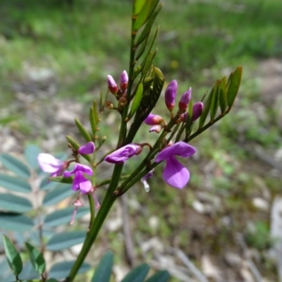
[{"label": "folded, veined purple flower lying sideways across the main stem", "polygon": [[111,164],[123,164],[130,157],[133,157],[135,154],[140,154],[141,152],[142,147],[140,145],[135,143],[128,144],[108,154],[104,160]]}]

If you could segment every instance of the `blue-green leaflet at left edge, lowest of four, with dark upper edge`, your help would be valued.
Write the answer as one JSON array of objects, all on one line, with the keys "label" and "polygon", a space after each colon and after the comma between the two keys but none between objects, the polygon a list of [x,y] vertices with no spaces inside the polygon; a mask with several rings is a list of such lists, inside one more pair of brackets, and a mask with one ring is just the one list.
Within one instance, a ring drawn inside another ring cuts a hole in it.
[{"label": "blue-green leaflet at left edge, lowest of four, with dark upper edge", "polygon": [[30,231],[34,227],[33,221],[23,214],[14,212],[0,212],[0,226],[6,231]]}]

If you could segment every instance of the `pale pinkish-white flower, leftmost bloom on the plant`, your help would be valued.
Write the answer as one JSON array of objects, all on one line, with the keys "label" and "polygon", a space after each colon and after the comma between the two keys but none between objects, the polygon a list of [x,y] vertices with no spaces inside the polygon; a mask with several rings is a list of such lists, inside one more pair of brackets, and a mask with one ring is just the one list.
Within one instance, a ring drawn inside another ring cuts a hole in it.
[{"label": "pale pinkish-white flower, leftmost bloom on the plant", "polygon": [[56,159],[51,154],[39,154],[37,161],[42,171],[50,173],[50,176],[61,176],[66,168],[66,163]]}]

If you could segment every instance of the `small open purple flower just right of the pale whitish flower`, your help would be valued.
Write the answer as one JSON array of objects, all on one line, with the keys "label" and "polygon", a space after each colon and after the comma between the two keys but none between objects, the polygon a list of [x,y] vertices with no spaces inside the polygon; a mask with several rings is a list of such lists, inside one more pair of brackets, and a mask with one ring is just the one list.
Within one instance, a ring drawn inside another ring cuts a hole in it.
[{"label": "small open purple flower just right of the pale whitish flower", "polygon": [[88,192],[92,191],[92,183],[90,180],[85,178],[83,176],[83,173],[86,173],[88,176],[93,175],[93,171],[89,166],[86,166],[85,164],[75,164],[75,167],[72,171],[65,171],[63,173],[64,177],[70,177],[74,174],[73,178],[73,187],[72,189],[74,191],[80,190],[82,194],[86,194]]}]

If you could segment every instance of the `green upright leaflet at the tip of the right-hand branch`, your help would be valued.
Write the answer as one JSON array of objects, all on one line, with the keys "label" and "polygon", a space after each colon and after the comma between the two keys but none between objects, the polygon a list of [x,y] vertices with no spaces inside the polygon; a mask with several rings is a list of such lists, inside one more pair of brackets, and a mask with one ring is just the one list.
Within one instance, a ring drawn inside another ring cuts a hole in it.
[{"label": "green upright leaflet at the tip of the right-hand branch", "polygon": [[228,78],[227,82],[227,103],[228,103],[228,111],[231,109],[231,106],[233,105],[235,98],[238,94],[238,90],[240,87],[240,82],[242,78],[242,71],[243,68],[241,66],[238,66],[233,73]]}]

